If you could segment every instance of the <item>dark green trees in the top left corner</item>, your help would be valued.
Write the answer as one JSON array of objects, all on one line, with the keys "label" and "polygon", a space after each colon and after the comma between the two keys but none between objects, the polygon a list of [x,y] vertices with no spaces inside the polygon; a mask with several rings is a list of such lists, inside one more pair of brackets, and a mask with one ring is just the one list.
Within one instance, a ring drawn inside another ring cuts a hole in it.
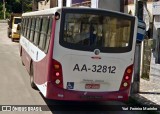
[{"label": "dark green trees in the top left corner", "polygon": [[5,1],[6,18],[10,13],[23,13],[32,11],[32,0],[0,0],[0,19],[4,18],[3,3]]}]

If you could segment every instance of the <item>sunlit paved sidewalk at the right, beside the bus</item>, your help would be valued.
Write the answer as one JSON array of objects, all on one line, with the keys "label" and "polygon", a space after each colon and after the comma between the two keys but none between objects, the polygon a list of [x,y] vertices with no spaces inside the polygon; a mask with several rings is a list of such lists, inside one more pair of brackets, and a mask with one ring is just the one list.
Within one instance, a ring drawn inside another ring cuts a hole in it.
[{"label": "sunlit paved sidewalk at the right, beside the bus", "polygon": [[141,105],[156,105],[160,108],[160,65],[154,64],[153,56],[150,68],[150,79],[140,78],[140,92],[132,95],[132,98]]}]

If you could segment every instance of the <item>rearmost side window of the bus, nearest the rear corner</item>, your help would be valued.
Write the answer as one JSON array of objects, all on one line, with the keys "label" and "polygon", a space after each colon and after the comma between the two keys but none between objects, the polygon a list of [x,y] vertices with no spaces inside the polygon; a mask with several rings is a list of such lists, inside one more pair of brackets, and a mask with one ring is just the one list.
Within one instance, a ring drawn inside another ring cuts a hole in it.
[{"label": "rearmost side window of the bus, nearest the rear corner", "polygon": [[49,42],[50,42],[51,32],[52,32],[52,21],[53,21],[53,18],[50,17],[50,18],[49,18],[48,31],[47,31],[46,45],[45,45],[45,49],[44,49],[44,52],[45,52],[45,53],[48,52],[48,48],[49,48]]}]

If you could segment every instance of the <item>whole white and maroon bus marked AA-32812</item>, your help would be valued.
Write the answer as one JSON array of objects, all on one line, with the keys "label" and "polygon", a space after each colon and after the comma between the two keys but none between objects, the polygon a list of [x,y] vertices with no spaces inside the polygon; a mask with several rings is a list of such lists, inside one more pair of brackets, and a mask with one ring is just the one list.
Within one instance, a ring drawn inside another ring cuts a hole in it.
[{"label": "whole white and maroon bus marked AA-32812", "polygon": [[20,56],[47,99],[126,101],[136,36],[135,16],[55,7],[22,14]]}]

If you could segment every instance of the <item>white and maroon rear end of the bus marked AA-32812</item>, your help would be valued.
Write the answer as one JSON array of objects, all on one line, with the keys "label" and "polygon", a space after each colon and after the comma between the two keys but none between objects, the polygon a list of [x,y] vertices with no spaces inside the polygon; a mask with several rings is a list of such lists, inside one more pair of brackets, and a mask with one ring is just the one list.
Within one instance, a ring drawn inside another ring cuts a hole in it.
[{"label": "white and maroon rear end of the bus marked AA-32812", "polygon": [[47,97],[58,100],[127,100],[130,92],[137,19],[90,8],[57,13],[52,80]]}]

